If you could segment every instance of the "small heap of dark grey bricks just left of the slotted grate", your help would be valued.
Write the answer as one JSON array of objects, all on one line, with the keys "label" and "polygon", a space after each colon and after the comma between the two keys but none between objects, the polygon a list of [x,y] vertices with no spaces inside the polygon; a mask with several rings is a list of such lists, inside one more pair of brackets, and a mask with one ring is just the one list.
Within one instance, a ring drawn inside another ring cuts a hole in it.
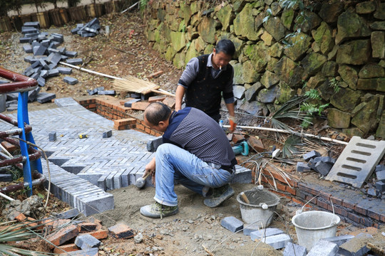
[{"label": "small heap of dark grey bricks just left of the slotted grate", "polygon": [[297,171],[300,173],[307,171],[317,171],[322,176],[327,176],[332,169],[336,159],[330,156],[321,156],[319,152],[313,150],[303,155],[305,162],[297,162]]}]

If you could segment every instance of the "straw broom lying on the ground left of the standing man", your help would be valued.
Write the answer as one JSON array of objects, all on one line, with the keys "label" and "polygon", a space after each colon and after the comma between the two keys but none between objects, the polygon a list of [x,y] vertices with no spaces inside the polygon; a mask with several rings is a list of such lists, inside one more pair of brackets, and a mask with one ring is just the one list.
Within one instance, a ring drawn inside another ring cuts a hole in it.
[{"label": "straw broom lying on the ground left of the standing man", "polygon": [[155,85],[153,82],[141,80],[139,78],[135,78],[131,75],[128,75],[126,77],[123,77],[123,79],[116,79],[113,81],[113,87],[117,90],[125,90],[128,92],[137,92],[141,93],[143,95],[149,93],[149,92],[157,92],[168,96],[173,96],[170,92],[164,92],[158,90],[160,86]]}]

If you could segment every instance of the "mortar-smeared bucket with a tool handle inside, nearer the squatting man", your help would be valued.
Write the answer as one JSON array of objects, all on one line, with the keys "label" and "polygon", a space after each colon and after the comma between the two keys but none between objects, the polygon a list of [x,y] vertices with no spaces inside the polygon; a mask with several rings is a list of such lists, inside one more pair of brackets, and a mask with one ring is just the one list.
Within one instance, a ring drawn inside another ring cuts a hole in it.
[{"label": "mortar-smeared bucket with a tool handle inside, nearer the squatting man", "polygon": [[260,228],[266,228],[272,222],[274,210],[279,203],[279,197],[265,189],[252,189],[244,191],[244,193],[250,203],[246,203],[241,194],[237,196],[242,220],[247,224],[255,224],[259,225]]}]

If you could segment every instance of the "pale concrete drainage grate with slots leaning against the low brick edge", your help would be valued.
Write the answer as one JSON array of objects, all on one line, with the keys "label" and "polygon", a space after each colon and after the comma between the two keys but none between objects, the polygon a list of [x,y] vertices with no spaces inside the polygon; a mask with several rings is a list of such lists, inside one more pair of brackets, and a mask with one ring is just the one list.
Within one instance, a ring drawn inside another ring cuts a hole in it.
[{"label": "pale concrete drainage grate with slots leaning against the low brick edge", "polygon": [[385,141],[372,141],[354,136],[327,175],[327,180],[361,188],[384,154]]}]

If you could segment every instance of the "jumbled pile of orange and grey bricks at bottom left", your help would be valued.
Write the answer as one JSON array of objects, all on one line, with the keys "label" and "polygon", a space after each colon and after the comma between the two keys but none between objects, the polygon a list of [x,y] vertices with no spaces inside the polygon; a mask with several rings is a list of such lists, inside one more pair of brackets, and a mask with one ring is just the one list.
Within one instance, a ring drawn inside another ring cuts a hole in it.
[{"label": "jumbled pile of orange and grey bricks at bottom left", "polygon": [[116,224],[107,230],[96,218],[75,220],[79,215],[75,208],[59,213],[55,217],[41,221],[26,217],[20,213],[15,220],[25,223],[36,230],[43,230],[48,247],[56,254],[66,255],[98,255],[101,240],[109,237],[116,239],[133,238],[135,233],[123,223]]}]

